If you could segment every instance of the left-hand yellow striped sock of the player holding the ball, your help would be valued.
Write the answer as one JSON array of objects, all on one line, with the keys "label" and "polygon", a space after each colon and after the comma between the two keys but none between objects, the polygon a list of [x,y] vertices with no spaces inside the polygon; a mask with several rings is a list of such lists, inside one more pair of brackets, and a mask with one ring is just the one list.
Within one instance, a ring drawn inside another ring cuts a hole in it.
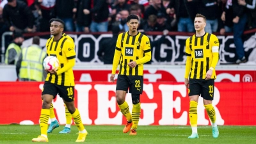
[{"label": "left-hand yellow striped sock of the player holding the ball", "polygon": [[45,134],[45,136],[47,136],[49,116],[50,116],[49,109],[41,109],[41,115],[40,115],[41,134]]}]

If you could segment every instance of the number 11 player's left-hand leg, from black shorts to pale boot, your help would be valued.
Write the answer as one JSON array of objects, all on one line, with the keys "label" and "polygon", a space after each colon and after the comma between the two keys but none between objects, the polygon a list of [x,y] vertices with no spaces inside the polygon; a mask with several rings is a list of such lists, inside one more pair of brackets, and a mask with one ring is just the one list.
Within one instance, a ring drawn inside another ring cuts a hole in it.
[{"label": "number 11 player's left-hand leg, from black shorts to pale boot", "polygon": [[188,138],[198,138],[197,133],[197,103],[201,93],[200,81],[189,79],[189,122],[192,129],[192,134]]}]

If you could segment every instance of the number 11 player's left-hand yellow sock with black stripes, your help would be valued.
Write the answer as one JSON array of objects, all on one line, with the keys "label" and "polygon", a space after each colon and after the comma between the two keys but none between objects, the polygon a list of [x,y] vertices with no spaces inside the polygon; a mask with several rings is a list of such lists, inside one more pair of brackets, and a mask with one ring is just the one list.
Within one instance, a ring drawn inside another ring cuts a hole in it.
[{"label": "number 11 player's left-hand yellow sock with black stripes", "polygon": [[189,121],[191,127],[197,127],[197,102],[189,102]]}]

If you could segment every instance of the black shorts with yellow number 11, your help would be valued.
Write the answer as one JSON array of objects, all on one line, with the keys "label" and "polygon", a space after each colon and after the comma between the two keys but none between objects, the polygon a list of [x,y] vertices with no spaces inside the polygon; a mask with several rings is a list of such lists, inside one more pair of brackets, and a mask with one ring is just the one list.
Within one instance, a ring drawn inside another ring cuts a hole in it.
[{"label": "black shorts with yellow number 11", "polygon": [[188,95],[201,95],[205,100],[213,100],[214,79],[189,79]]}]

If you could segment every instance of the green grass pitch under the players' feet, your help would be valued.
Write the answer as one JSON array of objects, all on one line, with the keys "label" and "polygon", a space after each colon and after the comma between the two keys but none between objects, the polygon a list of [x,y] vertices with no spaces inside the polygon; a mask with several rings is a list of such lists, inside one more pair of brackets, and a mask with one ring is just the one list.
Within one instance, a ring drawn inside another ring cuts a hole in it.
[{"label": "green grass pitch under the players' feet", "polygon": [[[75,125],[71,127],[70,134],[58,134],[63,125],[48,134],[49,143],[75,143],[78,136]],[[188,139],[191,134],[189,126],[142,126],[138,127],[136,136],[123,134],[124,125],[85,125],[88,136],[84,143],[178,143],[178,144],[210,144],[210,143],[256,143],[255,126],[219,126],[219,138],[212,138],[211,126],[198,126],[198,139]],[[32,138],[40,135],[39,125],[0,125],[0,143],[33,143]]]}]

